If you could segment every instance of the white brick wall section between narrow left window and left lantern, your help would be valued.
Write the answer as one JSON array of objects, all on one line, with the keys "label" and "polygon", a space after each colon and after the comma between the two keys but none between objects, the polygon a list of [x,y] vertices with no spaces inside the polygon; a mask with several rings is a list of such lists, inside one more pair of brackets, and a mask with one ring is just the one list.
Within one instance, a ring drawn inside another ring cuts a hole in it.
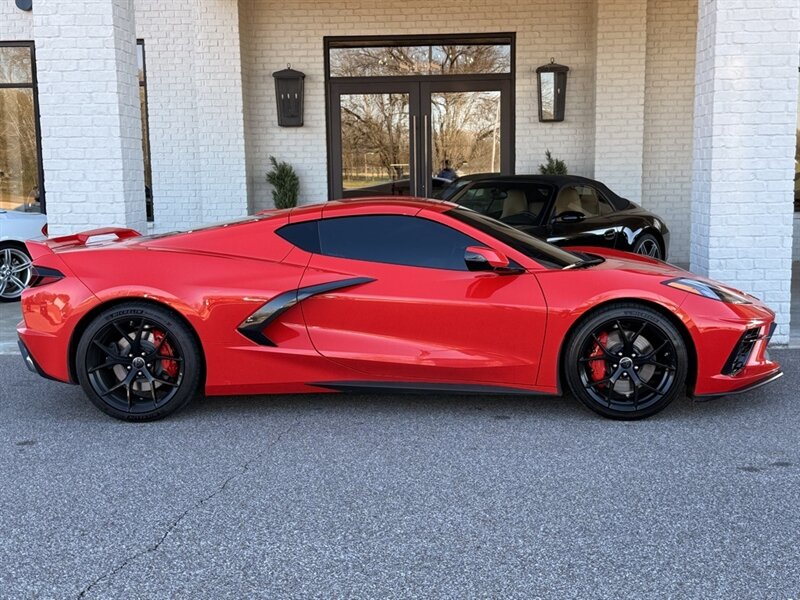
[{"label": "white brick wall section between narrow left window and left lantern", "polygon": [[247,213],[239,17],[230,0],[137,0],[157,231]]}]

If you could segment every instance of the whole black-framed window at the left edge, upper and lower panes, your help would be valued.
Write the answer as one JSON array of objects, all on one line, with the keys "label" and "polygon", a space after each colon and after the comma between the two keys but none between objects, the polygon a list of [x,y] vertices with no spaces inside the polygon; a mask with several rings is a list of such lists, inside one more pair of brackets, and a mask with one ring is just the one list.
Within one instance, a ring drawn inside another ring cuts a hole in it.
[{"label": "whole black-framed window at the left edge, upper and lower panes", "polygon": [[32,42],[0,42],[0,210],[44,211]]}]

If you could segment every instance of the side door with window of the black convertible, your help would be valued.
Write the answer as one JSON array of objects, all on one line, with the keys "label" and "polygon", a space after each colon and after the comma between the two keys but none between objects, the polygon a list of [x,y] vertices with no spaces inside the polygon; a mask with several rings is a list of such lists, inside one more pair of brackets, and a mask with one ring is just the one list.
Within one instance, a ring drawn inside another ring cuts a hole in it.
[{"label": "side door with window of the black convertible", "polygon": [[621,231],[614,221],[614,208],[594,187],[567,185],[556,196],[547,241],[559,246],[614,248]]}]

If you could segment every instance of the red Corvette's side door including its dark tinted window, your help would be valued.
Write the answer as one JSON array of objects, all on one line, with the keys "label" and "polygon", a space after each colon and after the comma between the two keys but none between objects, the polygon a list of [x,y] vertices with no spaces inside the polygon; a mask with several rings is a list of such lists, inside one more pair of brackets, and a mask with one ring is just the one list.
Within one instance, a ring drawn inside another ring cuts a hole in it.
[{"label": "red Corvette's side door including its dark tinted window", "polygon": [[353,285],[301,303],[315,348],[365,379],[533,385],[546,321],[534,275],[469,271],[465,249],[492,238],[437,219],[318,222],[301,290]]}]

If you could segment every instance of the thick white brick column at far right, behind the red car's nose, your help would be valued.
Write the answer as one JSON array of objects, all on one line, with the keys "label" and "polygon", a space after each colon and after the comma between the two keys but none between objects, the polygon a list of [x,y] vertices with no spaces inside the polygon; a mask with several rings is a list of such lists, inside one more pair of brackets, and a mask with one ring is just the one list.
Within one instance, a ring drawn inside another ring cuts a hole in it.
[{"label": "thick white brick column at far right, behind the red car's nose", "polygon": [[762,298],[789,340],[800,6],[700,0],[691,268]]}]

